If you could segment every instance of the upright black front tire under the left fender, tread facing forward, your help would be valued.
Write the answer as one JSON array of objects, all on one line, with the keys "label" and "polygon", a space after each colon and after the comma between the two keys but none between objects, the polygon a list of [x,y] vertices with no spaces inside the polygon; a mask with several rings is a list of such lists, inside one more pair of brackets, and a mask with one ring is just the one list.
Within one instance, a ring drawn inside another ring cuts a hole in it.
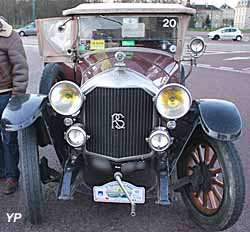
[{"label": "upright black front tire under the left fender, tread facing forward", "polygon": [[31,224],[40,224],[43,221],[44,206],[35,127],[29,126],[21,130],[18,136],[25,216]]}]

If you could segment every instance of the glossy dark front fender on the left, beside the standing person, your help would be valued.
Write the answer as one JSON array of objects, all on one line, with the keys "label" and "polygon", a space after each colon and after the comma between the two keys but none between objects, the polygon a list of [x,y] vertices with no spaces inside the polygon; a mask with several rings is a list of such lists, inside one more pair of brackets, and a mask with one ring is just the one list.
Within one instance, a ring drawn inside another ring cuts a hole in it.
[{"label": "glossy dark front fender on the left, beside the standing person", "polygon": [[18,131],[30,126],[41,116],[46,102],[46,95],[24,94],[11,98],[3,112],[1,127]]}]

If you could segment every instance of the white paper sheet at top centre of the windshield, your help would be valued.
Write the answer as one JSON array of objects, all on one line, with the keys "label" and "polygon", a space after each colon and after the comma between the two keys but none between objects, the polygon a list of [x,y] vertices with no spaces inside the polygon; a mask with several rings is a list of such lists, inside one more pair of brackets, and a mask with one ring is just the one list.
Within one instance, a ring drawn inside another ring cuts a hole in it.
[{"label": "white paper sheet at top centre of the windshield", "polygon": [[145,37],[145,24],[138,23],[131,27],[131,24],[123,24],[122,25],[122,37],[137,37],[137,38],[144,38]]}]

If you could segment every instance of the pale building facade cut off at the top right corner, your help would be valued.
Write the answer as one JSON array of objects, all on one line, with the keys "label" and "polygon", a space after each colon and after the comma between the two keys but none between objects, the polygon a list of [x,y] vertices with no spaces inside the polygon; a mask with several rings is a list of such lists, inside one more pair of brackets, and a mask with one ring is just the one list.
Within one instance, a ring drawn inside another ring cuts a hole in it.
[{"label": "pale building facade cut off at the top right corner", "polygon": [[235,9],[234,26],[250,29],[250,0],[241,0]]}]

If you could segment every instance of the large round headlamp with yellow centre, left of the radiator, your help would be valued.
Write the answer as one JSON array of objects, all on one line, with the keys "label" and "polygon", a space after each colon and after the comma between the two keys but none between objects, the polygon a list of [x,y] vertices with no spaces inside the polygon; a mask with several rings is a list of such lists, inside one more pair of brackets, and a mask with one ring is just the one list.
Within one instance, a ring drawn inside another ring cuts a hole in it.
[{"label": "large round headlamp with yellow centre, left of the radiator", "polygon": [[80,110],[83,103],[83,94],[80,87],[75,83],[60,81],[51,88],[49,101],[57,113],[72,115]]}]

